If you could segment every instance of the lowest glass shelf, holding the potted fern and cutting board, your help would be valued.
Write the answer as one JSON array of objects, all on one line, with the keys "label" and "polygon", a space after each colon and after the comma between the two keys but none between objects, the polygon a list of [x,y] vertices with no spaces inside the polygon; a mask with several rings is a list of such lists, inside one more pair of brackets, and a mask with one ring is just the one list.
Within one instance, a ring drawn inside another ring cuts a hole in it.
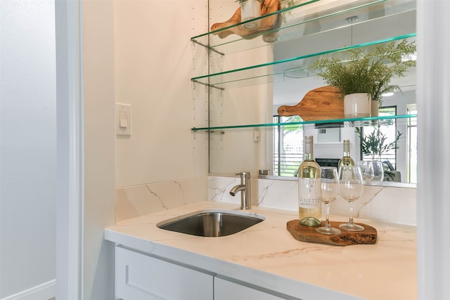
[{"label": "lowest glass shelf, holding the potted fern and cutting board", "polygon": [[245,124],[245,125],[233,125],[233,126],[213,126],[213,127],[194,127],[191,131],[224,131],[226,129],[248,129],[248,128],[261,128],[261,127],[278,127],[278,126],[293,126],[304,124],[336,124],[342,122],[348,122],[349,126],[373,126],[376,124],[382,124],[390,122],[393,119],[413,119],[417,115],[397,115],[397,116],[380,116],[380,117],[364,117],[364,118],[347,118],[347,119],[329,119],[329,120],[317,120],[317,121],[302,121],[302,122],[287,122],[287,123],[270,123],[270,124]]}]

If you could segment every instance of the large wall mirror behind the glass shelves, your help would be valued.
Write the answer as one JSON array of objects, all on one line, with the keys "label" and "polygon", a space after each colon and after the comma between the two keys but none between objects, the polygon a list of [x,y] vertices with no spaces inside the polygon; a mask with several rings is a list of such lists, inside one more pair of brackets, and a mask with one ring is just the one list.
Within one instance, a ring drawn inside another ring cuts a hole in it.
[{"label": "large wall mirror behind the glass shelves", "polygon": [[[238,43],[230,43],[228,47],[234,46],[236,50],[233,49],[224,56],[210,55],[209,72],[224,72],[224,70],[226,72],[226,70],[235,70],[243,66],[264,64],[264,61],[289,60],[293,57],[307,56],[309,53],[321,53],[333,48],[370,43],[416,32],[415,1],[362,1],[365,4],[348,9],[344,13],[335,15],[328,13],[328,11],[336,11],[336,7],[342,7],[342,2],[344,1],[321,0],[314,4],[307,4],[304,8],[296,8],[287,16],[285,25],[289,27],[290,22],[298,18],[312,20],[293,26],[296,32],[302,32],[301,37],[285,39],[281,35],[278,41],[269,46],[257,44],[255,39],[243,39]],[[345,5],[351,2],[354,1],[345,1]],[[234,0],[210,0],[210,22],[226,20],[236,10],[237,5]],[[351,22],[349,22],[350,19]],[[212,34],[210,38],[217,39]],[[227,37],[231,41],[238,38],[240,37],[233,34]],[[227,39],[223,39],[221,43],[227,44],[229,41]],[[214,43],[217,41],[211,44]],[[237,46],[240,43],[255,44],[255,46],[244,47],[245,49],[242,50],[242,47]],[[281,122],[281,119],[276,117],[276,111],[280,105],[295,105],[308,91],[326,85],[307,68],[317,58],[318,56],[311,56],[302,60],[267,65],[264,68],[269,69],[274,76],[264,79],[262,84],[236,84],[232,89],[226,87],[210,89],[210,127],[213,127],[209,133],[210,173],[233,174],[236,171],[252,171],[254,175],[262,170],[263,176],[295,180],[289,173],[279,171],[281,168],[279,155],[281,148],[292,149],[293,155],[297,155],[295,159],[300,159],[301,162],[302,136],[306,134],[314,136],[316,159],[342,157],[342,140],[347,138],[351,141],[350,152],[354,160],[359,161],[364,158],[360,154],[359,138],[349,122],[338,124],[334,126],[335,128],[316,124],[273,125]],[[229,75],[232,74],[223,76]],[[259,80],[258,74],[245,76]],[[395,93],[393,96],[383,98],[385,113],[415,115],[415,70],[410,70],[406,77],[396,79],[394,84],[399,84],[403,93]],[[254,126],[255,124],[267,124],[267,126]],[[240,126],[235,128],[236,125]],[[416,119],[396,119],[394,122],[385,122],[385,125],[387,127],[383,127],[382,131],[388,136],[392,135],[392,132],[395,136],[397,130],[402,133],[399,148],[393,154],[388,153],[389,157],[385,157],[386,160],[392,162],[395,169],[401,173],[401,183],[415,183]],[[294,127],[300,131],[293,131]],[[370,131],[371,127],[367,126],[367,129],[365,127],[366,131]],[[290,132],[283,133],[283,131]],[[285,143],[280,142],[281,136],[284,137]],[[300,163],[295,159],[293,159],[293,166],[296,164],[298,167]],[[396,181],[380,184],[398,183]]]}]

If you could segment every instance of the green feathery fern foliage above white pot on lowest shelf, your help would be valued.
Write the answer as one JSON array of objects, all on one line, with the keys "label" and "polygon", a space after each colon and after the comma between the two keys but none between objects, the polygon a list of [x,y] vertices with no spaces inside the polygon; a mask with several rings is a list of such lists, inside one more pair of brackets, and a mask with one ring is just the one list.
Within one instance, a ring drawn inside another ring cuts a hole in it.
[{"label": "green feathery fern foliage above white pot on lowest shelf", "polygon": [[342,97],[352,93],[368,93],[372,100],[378,100],[380,107],[383,93],[401,92],[400,86],[390,82],[394,77],[404,77],[409,67],[416,66],[416,60],[412,58],[415,54],[416,42],[403,39],[398,43],[390,41],[377,45],[368,52],[349,49],[340,58],[316,60],[311,67],[327,84],[338,87]]}]

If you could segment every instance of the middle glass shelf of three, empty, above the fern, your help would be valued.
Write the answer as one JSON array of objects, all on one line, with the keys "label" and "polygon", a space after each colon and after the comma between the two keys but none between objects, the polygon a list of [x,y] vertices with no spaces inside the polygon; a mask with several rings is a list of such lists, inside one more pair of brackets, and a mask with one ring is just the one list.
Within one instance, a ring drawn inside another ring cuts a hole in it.
[{"label": "middle glass shelf of three, empty, above the fern", "polygon": [[[364,44],[356,44],[353,46],[347,46],[342,48],[335,48],[320,53],[312,53],[305,56],[297,56],[294,58],[288,58],[284,60],[277,60],[269,63],[262,63],[260,65],[252,65],[250,67],[243,67],[236,70],[228,70],[224,72],[218,72],[214,74],[206,74],[199,77],[191,78],[191,81],[198,82],[207,86],[216,87],[219,89],[236,88],[242,86],[251,86],[255,84],[267,84],[276,81],[284,81],[292,78],[300,79],[302,77],[314,77],[314,70],[307,67],[292,67],[293,63],[302,65],[303,62],[308,62],[309,58],[327,58],[335,56],[339,53],[345,56],[345,51],[356,48],[365,48],[367,50],[374,48],[377,45],[385,44],[390,41],[397,41],[401,39],[411,39],[416,37],[416,33],[404,34],[389,39],[382,39],[377,41],[371,41]],[[279,70],[279,71],[277,71]],[[294,74],[295,76],[290,76]],[[297,74],[302,74],[298,76]]]}]

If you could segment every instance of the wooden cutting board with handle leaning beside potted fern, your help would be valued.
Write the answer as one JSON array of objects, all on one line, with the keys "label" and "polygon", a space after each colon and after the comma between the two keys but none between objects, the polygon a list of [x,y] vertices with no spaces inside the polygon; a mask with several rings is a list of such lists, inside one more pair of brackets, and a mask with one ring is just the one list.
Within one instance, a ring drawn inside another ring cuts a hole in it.
[{"label": "wooden cutting board with handle leaning beside potted fern", "polygon": [[281,105],[277,112],[283,117],[298,115],[304,121],[343,119],[344,103],[338,88],[321,86],[306,93],[296,105]]}]

